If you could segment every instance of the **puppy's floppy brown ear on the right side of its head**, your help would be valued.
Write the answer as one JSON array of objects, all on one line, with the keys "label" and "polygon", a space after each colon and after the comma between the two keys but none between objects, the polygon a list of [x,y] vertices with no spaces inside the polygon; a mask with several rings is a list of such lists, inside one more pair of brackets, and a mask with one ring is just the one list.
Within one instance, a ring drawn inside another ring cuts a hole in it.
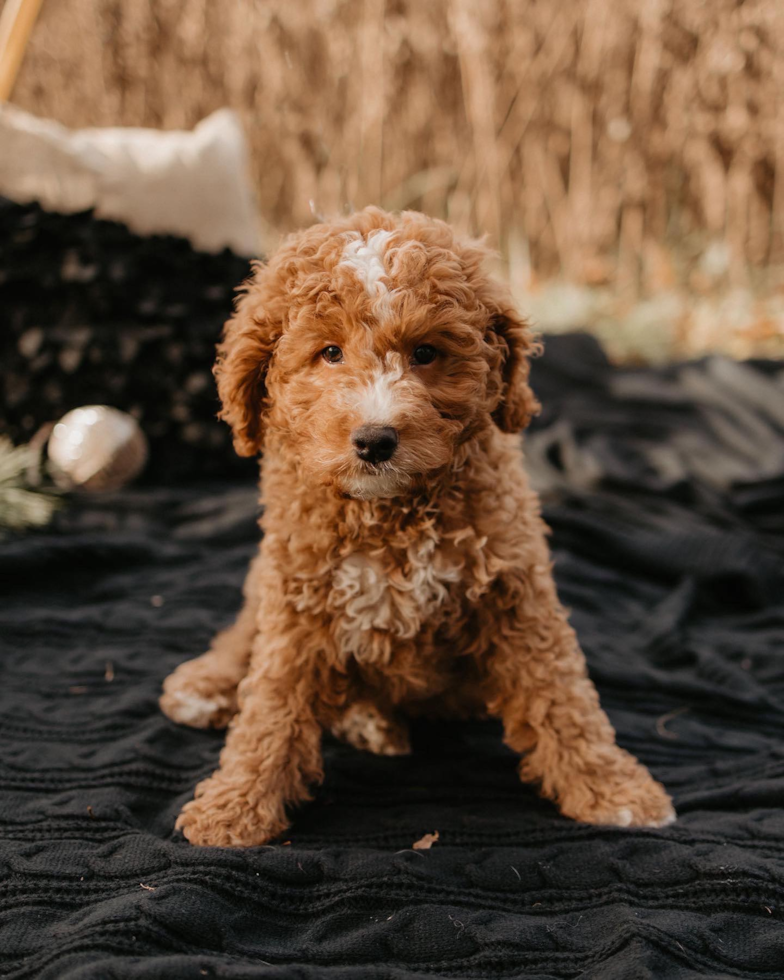
[{"label": "puppy's floppy brown ear on the right side of its head", "polygon": [[502,432],[519,432],[539,411],[540,405],[528,385],[528,359],[541,353],[526,321],[515,310],[511,296],[493,288],[489,302],[490,322],[485,341],[494,353],[488,393],[495,400],[493,421]]}]

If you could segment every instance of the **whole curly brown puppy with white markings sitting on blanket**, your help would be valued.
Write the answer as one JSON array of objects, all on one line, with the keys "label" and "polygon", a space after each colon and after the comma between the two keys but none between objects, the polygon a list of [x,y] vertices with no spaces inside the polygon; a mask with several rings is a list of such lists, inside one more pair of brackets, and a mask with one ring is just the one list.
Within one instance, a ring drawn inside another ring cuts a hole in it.
[{"label": "whole curly brown puppy with white markings sitting on blanket", "polygon": [[194,844],[276,837],[324,729],[392,755],[419,713],[502,719],[521,777],[576,820],[675,817],[558,601],[518,434],[535,343],[485,258],[368,208],[290,237],[226,325],[222,417],[263,450],[264,539],[235,625],[164,684],[175,721],[230,723],[177,822]]}]

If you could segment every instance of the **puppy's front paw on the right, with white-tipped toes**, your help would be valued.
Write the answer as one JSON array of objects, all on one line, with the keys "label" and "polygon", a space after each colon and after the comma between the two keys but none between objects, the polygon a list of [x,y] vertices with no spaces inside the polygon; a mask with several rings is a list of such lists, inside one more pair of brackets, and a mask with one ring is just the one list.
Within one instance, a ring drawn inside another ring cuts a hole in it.
[{"label": "puppy's front paw on the right, with white-tipped toes", "polygon": [[622,749],[617,764],[580,774],[559,798],[561,812],[582,823],[613,827],[666,827],[676,820],[667,791]]}]

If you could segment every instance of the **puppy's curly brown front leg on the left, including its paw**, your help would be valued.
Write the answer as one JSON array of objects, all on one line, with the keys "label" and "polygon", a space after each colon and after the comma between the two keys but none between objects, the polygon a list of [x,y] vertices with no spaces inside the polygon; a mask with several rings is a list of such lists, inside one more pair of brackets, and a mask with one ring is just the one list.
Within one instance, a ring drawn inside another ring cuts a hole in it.
[{"label": "puppy's curly brown front leg on the left, including its paw", "polygon": [[196,788],[177,820],[192,844],[251,847],[288,826],[285,807],[320,781],[321,727],[316,683],[301,663],[271,670],[262,645],[240,684],[240,711],[220,768]]}]

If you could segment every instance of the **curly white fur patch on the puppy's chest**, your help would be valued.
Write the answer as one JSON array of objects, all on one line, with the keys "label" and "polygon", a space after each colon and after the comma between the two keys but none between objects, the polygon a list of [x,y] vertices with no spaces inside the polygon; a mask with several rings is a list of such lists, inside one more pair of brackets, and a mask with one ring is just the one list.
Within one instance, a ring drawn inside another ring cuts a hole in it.
[{"label": "curly white fur patch on the puppy's chest", "polygon": [[344,659],[372,658],[374,631],[412,639],[447,599],[447,584],[460,578],[460,567],[445,563],[433,541],[412,546],[407,557],[405,574],[402,568],[387,572],[379,559],[361,552],[336,569],[330,605]]}]

